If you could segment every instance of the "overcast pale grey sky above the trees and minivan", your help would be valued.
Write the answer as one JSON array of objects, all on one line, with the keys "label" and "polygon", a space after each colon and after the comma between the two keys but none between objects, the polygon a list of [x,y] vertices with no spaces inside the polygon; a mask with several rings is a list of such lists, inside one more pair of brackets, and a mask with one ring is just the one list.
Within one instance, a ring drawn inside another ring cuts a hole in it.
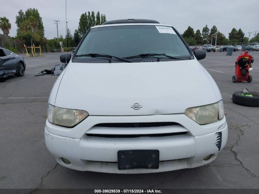
[{"label": "overcast pale grey sky above the trees and minivan", "polygon": [[[39,10],[45,28],[45,37],[57,36],[54,20],[60,20],[59,35],[66,33],[66,0],[0,0],[0,17],[6,16],[12,25],[10,36],[16,35],[15,16],[22,9]],[[67,22],[72,34],[78,28],[80,15],[100,11],[107,21],[125,18],[154,19],[173,25],[181,34],[191,26],[194,31],[205,25],[215,25],[228,38],[232,28],[248,32],[259,31],[258,0],[67,0]],[[0,33],[2,31],[0,30]]]}]

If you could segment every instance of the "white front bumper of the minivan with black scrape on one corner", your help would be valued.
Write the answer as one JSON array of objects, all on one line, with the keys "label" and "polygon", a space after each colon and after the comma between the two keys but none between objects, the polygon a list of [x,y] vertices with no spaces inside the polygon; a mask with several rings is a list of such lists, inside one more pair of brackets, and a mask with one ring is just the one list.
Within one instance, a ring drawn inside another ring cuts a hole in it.
[{"label": "white front bumper of the minivan with black scrape on one corner", "polygon": [[[185,126],[179,125],[167,127],[166,129],[160,128],[156,129],[156,131],[171,130],[170,132],[172,132],[172,130],[186,130],[188,131],[186,134],[164,137],[138,138],[106,138],[86,135],[87,131],[98,131],[98,128],[94,127],[90,128],[90,130],[85,130],[80,137],[73,137],[71,135],[73,134],[71,131],[77,131],[77,126],[74,128],[60,127],[49,123],[47,120],[44,133],[45,143],[50,153],[55,157],[56,161],[60,165],[80,171],[94,171],[104,173],[155,173],[177,169],[194,168],[208,164],[215,160],[219,151],[222,150],[227,143],[228,128],[225,117],[222,120],[212,124],[197,124],[197,126],[194,121],[190,120],[185,115],[178,114],[178,116],[178,123],[181,124],[181,122],[185,122]],[[105,120],[107,116],[95,117],[96,118],[94,118],[94,116],[92,116],[92,118],[87,118],[89,120],[86,123],[89,124],[91,123],[91,120],[94,121],[97,118],[100,123],[100,120]],[[177,120],[176,115],[173,117],[175,120]],[[111,116],[110,122],[112,123],[113,121],[111,118],[117,121],[122,119],[124,122],[126,119],[130,121],[134,120],[134,122],[137,122],[138,119],[142,120],[142,122],[148,122],[147,120],[150,122],[150,118],[156,118],[156,122],[160,122],[168,120],[170,116]],[[180,118],[182,118],[182,120]],[[184,119],[186,119],[186,121],[184,121]],[[79,125],[85,128],[83,122]],[[78,131],[80,131],[81,127],[78,127]],[[198,128],[200,128],[199,130],[202,131],[202,134],[200,131],[196,131]],[[63,130],[63,132],[61,130]],[[70,135],[67,136],[70,137],[60,136],[60,134],[64,135],[64,130],[69,131],[67,134]],[[116,130],[117,129],[114,129],[112,131]],[[135,129],[132,128],[131,130],[134,131]],[[152,129],[150,129],[150,131],[152,131]],[[204,131],[208,131],[208,133],[204,133]],[[60,134],[55,135],[54,133]],[[118,170],[118,150],[159,150],[159,169]],[[210,159],[206,161],[203,160],[210,154],[212,154]],[[71,163],[66,164],[62,161],[61,158],[67,158]]]}]

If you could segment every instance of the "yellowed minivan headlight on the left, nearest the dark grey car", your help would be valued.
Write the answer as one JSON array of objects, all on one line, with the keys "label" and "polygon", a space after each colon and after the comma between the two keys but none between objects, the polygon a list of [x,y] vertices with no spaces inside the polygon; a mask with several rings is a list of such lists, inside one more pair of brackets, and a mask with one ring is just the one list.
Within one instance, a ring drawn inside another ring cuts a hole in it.
[{"label": "yellowed minivan headlight on the left, nearest the dark grey car", "polygon": [[88,112],[84,110],[74,110],[68,108],[59,108],[48,104],[48,121],[65,127],[73,127],[88,117]]}]

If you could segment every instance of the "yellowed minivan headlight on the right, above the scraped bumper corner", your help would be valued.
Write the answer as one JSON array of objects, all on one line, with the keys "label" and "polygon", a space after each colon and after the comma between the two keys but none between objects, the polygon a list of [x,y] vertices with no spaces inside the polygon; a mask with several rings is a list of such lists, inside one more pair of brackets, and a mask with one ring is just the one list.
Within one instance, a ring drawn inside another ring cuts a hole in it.
[{"label": "yellowed minivan headlight on the right, above the scraped bumper corner", "polygon": [[223,100],[210,105],[187,108],[184,114],[200,125],[216,122],[224,116]]}]

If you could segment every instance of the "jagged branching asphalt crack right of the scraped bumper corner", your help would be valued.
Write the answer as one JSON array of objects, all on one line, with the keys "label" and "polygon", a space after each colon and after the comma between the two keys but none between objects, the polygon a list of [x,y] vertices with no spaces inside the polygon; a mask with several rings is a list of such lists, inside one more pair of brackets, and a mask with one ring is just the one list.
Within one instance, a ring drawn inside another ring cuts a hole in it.
[{"label": "jagged branching asphalt crack right of the scraped bumper corner", "polygon": [[[229,124],[229,125],[231,126],[231,124]],[[247,125],[245,125],[245,126],[252,126],[252,125],[248,125],[248,124],[247,124]],[[252,177],[259,178],[259,176],[257,176],[256,174],[252,173],[251,170],[249,170],[248,168],[246,168],[246,167],[244,166],[243,162],[242,162],[240,159],[238,159],[238,153],[233,150],[234,146],[238,146],[238,142],[240,141],[240,137],[241,137],[242,135],[244,135],[244,131],[241,129],[241,125],[240,125],[240,127],[235,126],[235,125],[232,125],[232,127],[234,127],[235,130],[236,130],[236,128],[238,129],[238,130],[237,130],[238,138],[236,139],[236,142],[235,142],[235,143],[230,144],[229,146],[224,147],[223,149],[224,149],[224,150],[230,150],[230,152],[234,155],[235,160],[240,163],[240,165],[242,166],[243,169],[246,170],[246,173],[248,173],[248,174],[251,175]],[[244,126],[243,126],[243,127],[244,127]]]}]

